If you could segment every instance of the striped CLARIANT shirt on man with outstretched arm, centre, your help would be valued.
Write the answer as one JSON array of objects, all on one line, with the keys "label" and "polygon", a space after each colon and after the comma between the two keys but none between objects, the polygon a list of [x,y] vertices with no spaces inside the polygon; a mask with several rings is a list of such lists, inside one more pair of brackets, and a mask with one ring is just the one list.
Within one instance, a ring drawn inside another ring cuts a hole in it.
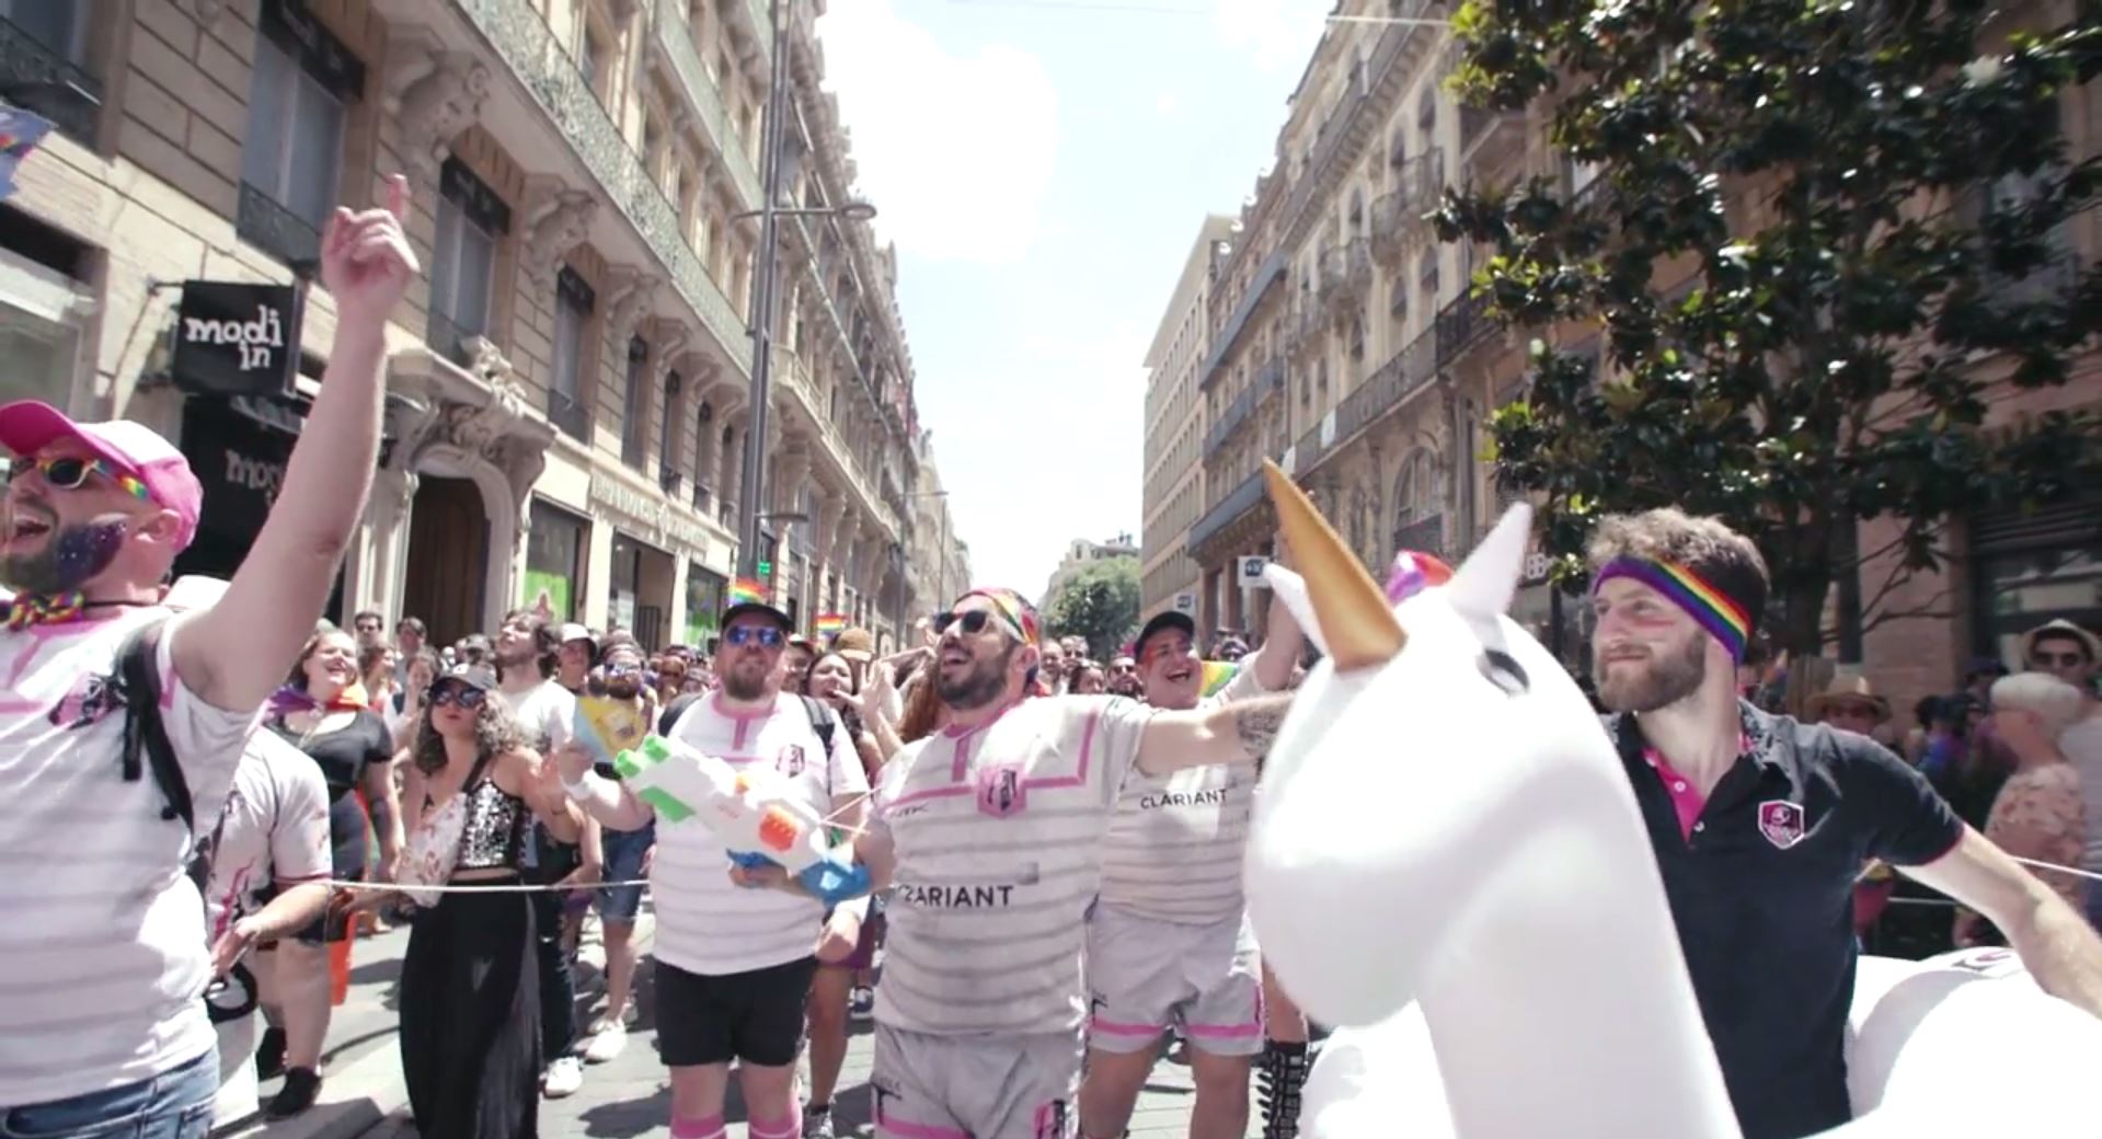
[{"label": "striped CLARIANT shirt on man with outstretched arm, centre", "polygon": [[935,1036],[1078,1032],[1080,958],[1116,788],[1152,708],[1024,700],[900,750],[877,790],[898,851],[877,1021]]}]

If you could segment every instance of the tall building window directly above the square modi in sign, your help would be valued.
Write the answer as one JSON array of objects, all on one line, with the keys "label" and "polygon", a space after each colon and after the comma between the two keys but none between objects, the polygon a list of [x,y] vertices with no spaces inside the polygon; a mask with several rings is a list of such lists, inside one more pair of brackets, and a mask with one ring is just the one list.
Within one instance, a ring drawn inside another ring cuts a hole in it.
[{"label": "tall building window directly above the square modi in sign", "polygon": [[288,0],[263,4],[235,229],[294,269],[320,263],[347,105],[364,84],[364,63],[313,17]]}]

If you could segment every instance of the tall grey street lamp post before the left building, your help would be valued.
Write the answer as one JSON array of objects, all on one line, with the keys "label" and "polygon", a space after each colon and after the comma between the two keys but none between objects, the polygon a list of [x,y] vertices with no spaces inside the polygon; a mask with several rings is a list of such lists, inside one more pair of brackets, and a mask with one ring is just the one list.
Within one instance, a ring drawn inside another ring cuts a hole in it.
[{"label": "tall grey street lamp post before the left building", "polygon": [[765,502],[767,469],[767,385],[774,370],[774,296],[780,271],[778,219],[780,216],[843,216],[868,221],[877,208],[868,202],[847,202],[830,208],[780,208],[782,198],[782,143],[786,139],[788,103],[788,38],[782,34],[782,0],[769,0],[767,27],[774,32],[771,69],[767,71],[767,109],[761,124],[765,200],[757,210],[731,214],[731,221],[759,219],[759,277],[753,284],[753,380],[750,410],[744,424],[744,488],[738,496],[738,576],[759,576],[759,504]]}]

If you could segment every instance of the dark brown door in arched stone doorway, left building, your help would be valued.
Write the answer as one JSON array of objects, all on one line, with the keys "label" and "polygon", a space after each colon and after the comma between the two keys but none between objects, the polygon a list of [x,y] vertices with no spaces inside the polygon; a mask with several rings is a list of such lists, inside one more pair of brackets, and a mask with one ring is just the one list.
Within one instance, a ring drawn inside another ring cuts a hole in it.
[{"label": "dark brown door in arched stone doorway, left building", "polygon": [[490,515],[473,479],[423,475],[408,521],[401,616],[416,616],[433,645],[481,628],[490,565]]}]

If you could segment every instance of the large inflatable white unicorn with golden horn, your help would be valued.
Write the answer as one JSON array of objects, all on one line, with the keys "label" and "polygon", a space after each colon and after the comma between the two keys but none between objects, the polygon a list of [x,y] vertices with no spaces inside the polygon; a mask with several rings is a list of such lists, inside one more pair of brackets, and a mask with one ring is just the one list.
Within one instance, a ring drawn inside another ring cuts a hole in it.
[{"label": "large inflatable white unicorn with golden horn", "polygon": [[[1299,567],[1270,584],[1326,654],[1246,849],[1263,956],[1341,1026],[1301,1135],[1740,1139],[1625,769],[1505,618],[1530,509],[1389,607],[1299,488],[1268,479]],[[2096,1072],[2102,1021],[2012,954],[1864,958],[1858,1118],[1827,1135],[2070,1135],[2096,1126]]]}]

